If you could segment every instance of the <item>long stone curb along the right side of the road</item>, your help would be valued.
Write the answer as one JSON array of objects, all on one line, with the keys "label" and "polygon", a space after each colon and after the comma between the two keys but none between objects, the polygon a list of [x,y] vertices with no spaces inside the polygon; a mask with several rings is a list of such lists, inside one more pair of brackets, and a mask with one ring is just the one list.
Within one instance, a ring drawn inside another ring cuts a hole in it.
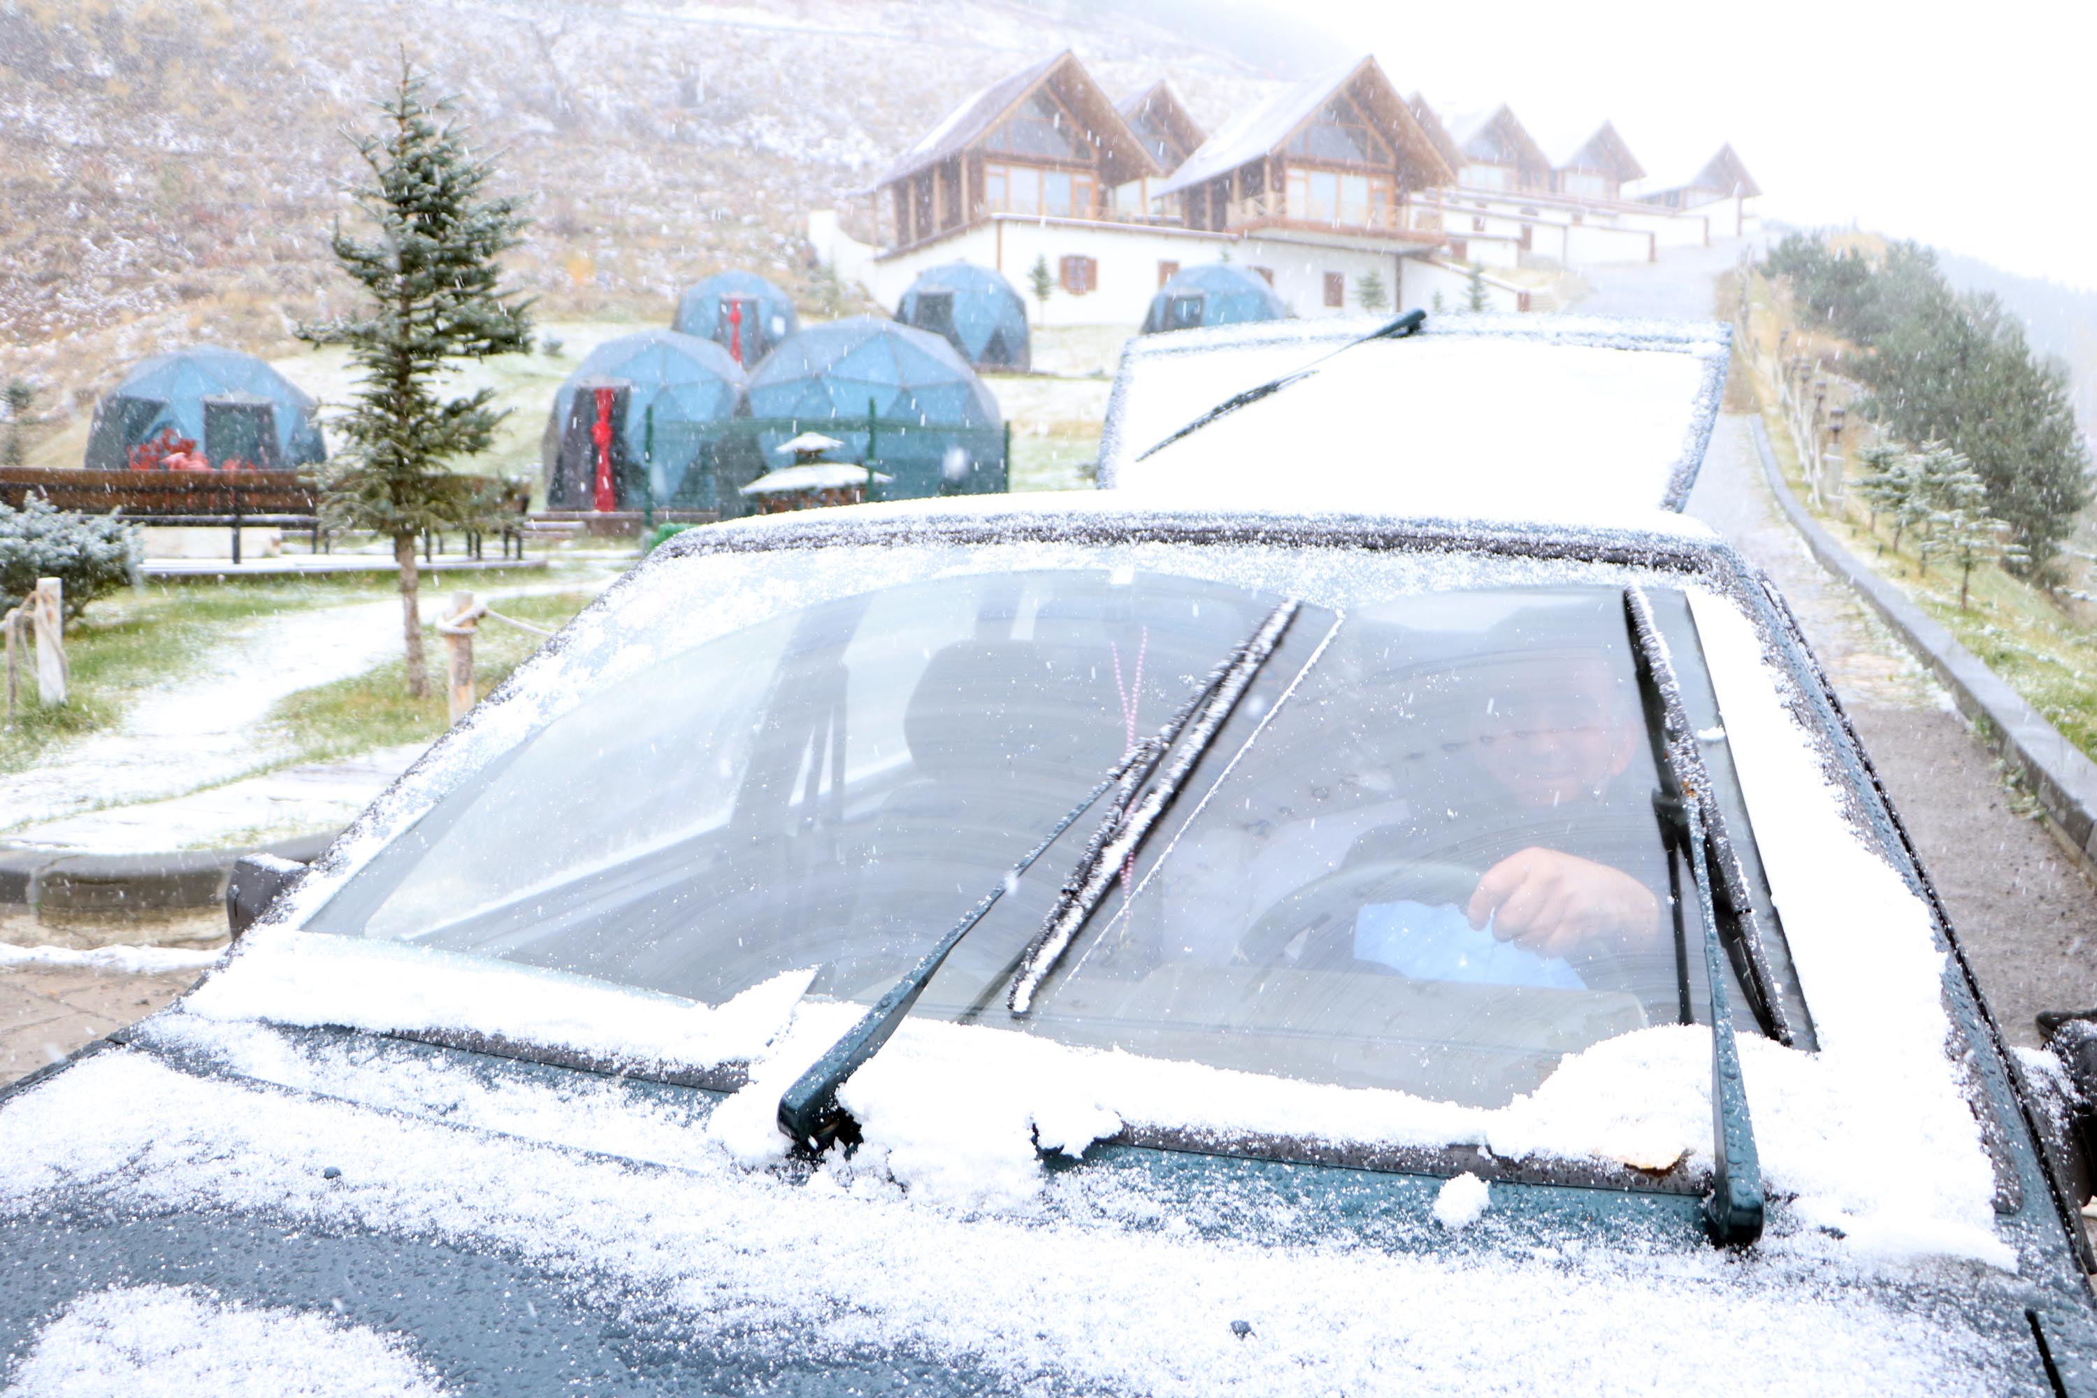
[{"label": "long stone curb along the right side of the road", "polygon": [[1791,482],[1776,469],[1770,432],[1759,415],[1749,417],[1749,432],[1755,438],[1755,455],[1761,457],[1761,474],[1770,482],[1770,493],[1776,495],[1791,526],[1806,539],[1812,555],[1856,589],[1871,604],[1871,610],[1950,690],[1952,702],[1973,723],[1982,744],[2007,761],[2038,796],[2038,805],[2051,817],[2049,828],[2055,838],[2070,849],[2084,874],[2097,872],[2097,763],[2068,742],[2057,727],[2047,723],[2045,715],[2024,702],[2022,694],[2003,683],[2003,677],[1982,664],[1950,631],[1923,614],[1906,593],[1858,562],[1818,520],[1806,514],[1806,507],[1791,493]]}]

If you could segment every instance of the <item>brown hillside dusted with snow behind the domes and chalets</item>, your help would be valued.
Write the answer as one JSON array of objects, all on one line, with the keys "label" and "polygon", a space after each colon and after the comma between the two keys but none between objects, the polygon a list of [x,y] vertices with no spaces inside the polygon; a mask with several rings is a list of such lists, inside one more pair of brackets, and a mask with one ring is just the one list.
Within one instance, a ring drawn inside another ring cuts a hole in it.
[{"label": "brown hillside dusted with snow behind the domes and chalets", "polygon": [[342,132],[403,44],[535,197],[516,268],[552,316],[652,321],[730,264],[805,296],[809,207],[849,210],[965,92],[1061,46],[1116,92],[1170,73],[1212,128],[1262,88],[1086,0],[19,0],[0,373],[78,415],[161,344],[291,350],[291,321],[342,306]]}]

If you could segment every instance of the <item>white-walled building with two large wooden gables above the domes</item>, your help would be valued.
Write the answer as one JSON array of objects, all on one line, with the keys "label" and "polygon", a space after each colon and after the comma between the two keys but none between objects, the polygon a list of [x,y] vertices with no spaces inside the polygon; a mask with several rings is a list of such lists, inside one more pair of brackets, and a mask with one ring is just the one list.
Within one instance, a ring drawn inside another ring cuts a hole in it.
[{"label": "white-walled building with two large wooden gables above the domes", "polygon": [[[872,191],[874,243],[835,212],[812,216],[809,241],[885,306],[929,266],[988,266],[1038,325],[1137,325],[1197,262],[1258,272],[1304,316],[1361,310],[1378,287],[1384,306],[1447,300],[1443,283],[1464,279],[1424,266],[1443,239],[1411,218],[1411,199],[1455,172],[1374,59],[1275,92],[1181,161],[1176,143],[1199,134],[1183,117],[1164,86],[1118,109],[1061,52],[975,92],[898,157]],[[1512,287],[1489,296],[1518,304]]]}]

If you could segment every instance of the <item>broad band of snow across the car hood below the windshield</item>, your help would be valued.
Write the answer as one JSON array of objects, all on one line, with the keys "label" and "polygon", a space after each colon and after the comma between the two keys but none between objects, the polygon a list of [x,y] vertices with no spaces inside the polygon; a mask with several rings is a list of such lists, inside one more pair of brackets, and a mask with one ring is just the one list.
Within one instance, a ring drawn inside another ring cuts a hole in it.
[{"label": "broad band of snow across the car hood below the windshield", "polygon": [[[537,1111],[562,1111],[552,1090]],[[910,1350],[1011,1388],[1984,1394],[2022,1358],[1980,1306],[1910,1308],[1814,1262],[1701,1239],[1386,1251],[1353,1228],[1432,1230],[1424,1209],[1311,1228],[1260,1184],[1176,1180],[1080,1170],[1030,1214],[956,1214],[849,1172],[621,1163],[134,1050],[0,1109],[0,1214],[86,1197],[499,1247],[646,1293],[700,1344]]]}]

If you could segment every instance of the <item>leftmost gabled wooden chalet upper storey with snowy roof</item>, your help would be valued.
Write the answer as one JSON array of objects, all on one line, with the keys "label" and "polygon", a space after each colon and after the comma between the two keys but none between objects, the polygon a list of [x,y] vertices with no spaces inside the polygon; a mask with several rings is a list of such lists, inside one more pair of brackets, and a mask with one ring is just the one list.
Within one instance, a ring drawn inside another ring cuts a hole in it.
[{"label": "leftmost gabled wooden chalet upper storey with snowy roof", "polygon": [[1078,59],[1063,50],[960,103],[877,182],[889,247],[912,247],[994,214],[1107,218],[1118,187],[1160,176]]}]

